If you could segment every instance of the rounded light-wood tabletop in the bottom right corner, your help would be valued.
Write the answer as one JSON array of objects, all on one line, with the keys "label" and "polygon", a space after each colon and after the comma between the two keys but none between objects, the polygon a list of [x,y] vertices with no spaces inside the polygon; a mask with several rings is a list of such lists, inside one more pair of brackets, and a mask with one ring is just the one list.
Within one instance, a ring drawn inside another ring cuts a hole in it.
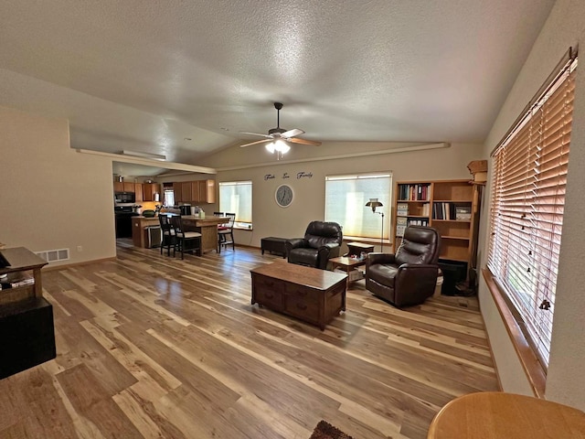
[{"label": "rounded light-wood tabletop in the bottom right corner", "polygon": [[585,413],[557,402],[502,391],[460,396],[434,417],[427,439],[585,437]]}]

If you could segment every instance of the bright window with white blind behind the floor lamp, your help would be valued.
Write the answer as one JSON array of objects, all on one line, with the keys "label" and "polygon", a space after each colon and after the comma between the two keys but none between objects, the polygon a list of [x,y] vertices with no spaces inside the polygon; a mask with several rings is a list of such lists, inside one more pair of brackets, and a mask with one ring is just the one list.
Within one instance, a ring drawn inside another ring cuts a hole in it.
[{"label": "bright window with white blind behind the floor lamp", "polygon": [[381,215],[366,208],[369,198],[378,198],[384,205],[377,212],[384,212],[384,235],[388,241],[389,206],[391,202],[392,175],[360,174],[325,177],[325,221],[335,221],[343,227],[344,237],[379,241],[382,233]]}]

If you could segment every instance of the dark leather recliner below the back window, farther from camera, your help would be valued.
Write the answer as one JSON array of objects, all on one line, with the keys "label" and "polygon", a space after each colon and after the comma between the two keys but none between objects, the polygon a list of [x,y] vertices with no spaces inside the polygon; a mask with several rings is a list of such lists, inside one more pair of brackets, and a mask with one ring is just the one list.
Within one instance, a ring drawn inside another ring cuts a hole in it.
[{"label": "dark leather recliner below the back window, farther from camera", "polygon": [[327,261],[339,256],[343,238],[341,226],[336,222],[311,221],[304,238],[285,242],[288,261],[325,270]]}]

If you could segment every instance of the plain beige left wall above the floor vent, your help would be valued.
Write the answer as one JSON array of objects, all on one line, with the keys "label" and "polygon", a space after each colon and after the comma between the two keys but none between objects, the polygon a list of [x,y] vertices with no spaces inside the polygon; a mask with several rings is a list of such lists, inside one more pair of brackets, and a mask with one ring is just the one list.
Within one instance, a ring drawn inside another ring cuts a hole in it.
[{"label": "plain beige left wall above the floor vent", "polygon": [[65,263],[115,256],[112,160],[70,149],[64,119],[5,107],[0,152],[0,242],[33,252],[67,248]]}]

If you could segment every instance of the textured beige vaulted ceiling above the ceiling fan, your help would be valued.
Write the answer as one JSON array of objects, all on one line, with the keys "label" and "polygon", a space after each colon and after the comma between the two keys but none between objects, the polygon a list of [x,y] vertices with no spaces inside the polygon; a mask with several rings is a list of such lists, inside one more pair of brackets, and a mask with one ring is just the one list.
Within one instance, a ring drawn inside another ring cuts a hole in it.
[{"label": "textured beige vaulted ceiling above the ceiling fan", "polygon": [[5,0],[0,105],[188,164],[275,127],[275,101],[312,140],[482,142],[553,4]]}]

